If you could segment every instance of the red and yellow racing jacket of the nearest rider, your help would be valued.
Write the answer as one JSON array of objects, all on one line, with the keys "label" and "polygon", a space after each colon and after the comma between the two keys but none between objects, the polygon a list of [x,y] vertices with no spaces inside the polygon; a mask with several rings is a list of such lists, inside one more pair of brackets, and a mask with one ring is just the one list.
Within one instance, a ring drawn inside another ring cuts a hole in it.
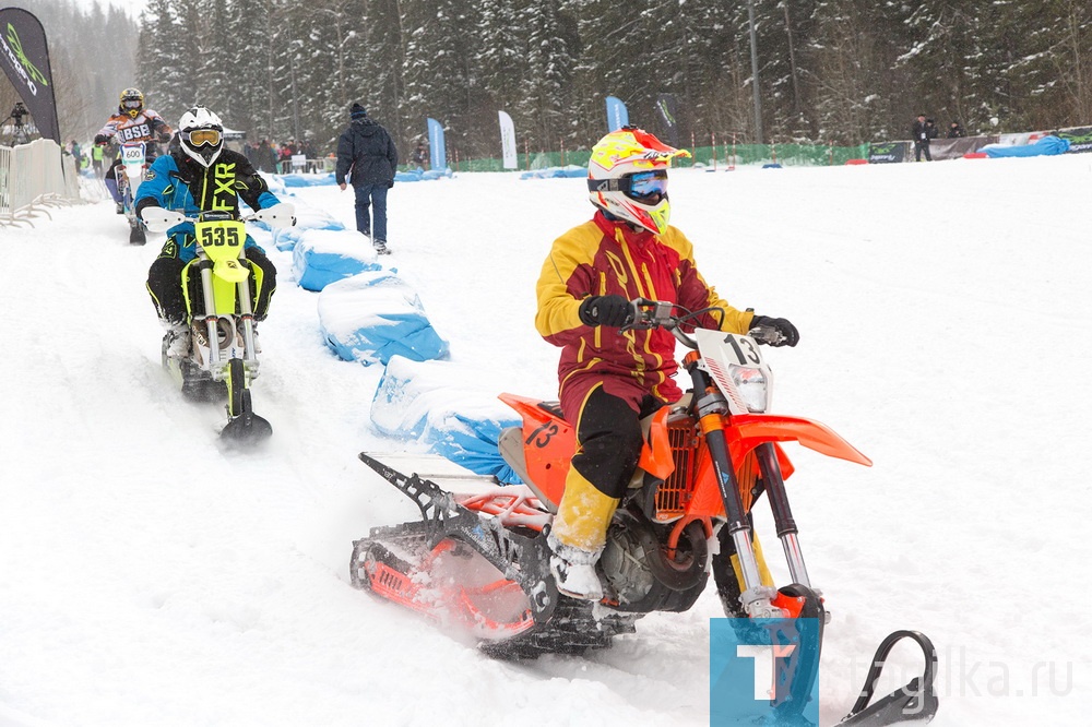
[{"label": "red and yellow racing jacket of the nearest rider", "polygon": [[677,228],[668,227],[660,236],[634,231],[602,212],[554,241],[538,277],[537,295],[535,326],[562,349],[558,378],[567,416],[566,400],[571,400],[567,389],[587,390],[591,381],[614,377],[625,378],[627,389],[636,384],[663,402],[682,395],[672,379],[678,370],[675,337],[663,329],[619,334],[618,329],[584,325],[579,309],[586,296],[666,300],[691,311],[722,308],[723,321],[716,312],[698,320],[703,327],[731,333],[747,333],[753,318],[729,306],[705,283],[695,266],[690,240]]}]

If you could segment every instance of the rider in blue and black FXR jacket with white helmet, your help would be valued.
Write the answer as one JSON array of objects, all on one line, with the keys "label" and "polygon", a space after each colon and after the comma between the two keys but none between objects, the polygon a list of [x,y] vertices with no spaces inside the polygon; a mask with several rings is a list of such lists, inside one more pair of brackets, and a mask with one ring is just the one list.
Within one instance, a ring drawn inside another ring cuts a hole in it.
[{"label": "rider in blue and black FXR jacket with white helmet", "polygon": [[[209,210],[238,215],[240,196],[253,210],[281,203],[246,156],[224,148],[224,124],[207,108],[195,106],[182,115],[178,141],[178,150],[157,158],[144,175],[135,202],[139,216],[152,206],[185,215]],[[251,264],[254,320],[262,321],[276,288],[276,267],[249,235],[244,248]],[[194,258],[193,223],[181,223],[167,230],[167,242],[147,273],[147,290],[167,327],[170,356],[185,356],[190,348],[182,269]]]}]

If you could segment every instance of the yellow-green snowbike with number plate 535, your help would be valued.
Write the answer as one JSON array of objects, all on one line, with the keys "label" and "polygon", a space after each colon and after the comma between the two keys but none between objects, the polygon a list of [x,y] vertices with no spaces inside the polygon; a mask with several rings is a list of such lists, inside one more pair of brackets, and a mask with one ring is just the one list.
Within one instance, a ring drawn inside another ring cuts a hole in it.
[{"label": "yellow-green snowbike with number plate 535", "polygon": [[[293,205],[286,203],[249,216],[237,216],[230,211],[207,211],[194,216],[162,207],[143,211],[144,224],[153,231],[193,223],[198,255],[182,270],[191,346],[186,355],[170,355],[165,336],[163,367],[181,385],[187,398],[221,401],[226,394],[228,421],[221,437],[230,441],[256,442],[273,433],[272,425],[254,414],[250,396],[250,383],[259,373],[260,348],[254,331],[251,264],[244,252],[246,223],[289,227],[295,222],[294,215]],[[261,270],[253,271],[260,289]]]}]

